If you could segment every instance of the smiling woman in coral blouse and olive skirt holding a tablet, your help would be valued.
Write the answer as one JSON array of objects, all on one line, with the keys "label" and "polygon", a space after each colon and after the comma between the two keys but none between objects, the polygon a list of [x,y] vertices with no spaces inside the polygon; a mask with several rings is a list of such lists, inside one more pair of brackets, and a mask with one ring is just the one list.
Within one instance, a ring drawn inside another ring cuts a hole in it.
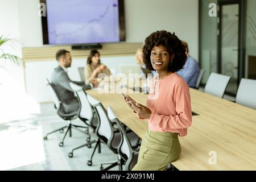
[{"label": "smiling woman in coral blouse and olive skirt holding a tablet", "polygon": [[156,31],[145,40],[143,62],[158,74],[151,80],[147,106],[126,100],[138,118],[148,120],[133,170],[166,170],[181,154],[179,136],[187,135],[191,126],[191,100],[187,83],[175,72],[186,59],[185,47],[175,34]]}]

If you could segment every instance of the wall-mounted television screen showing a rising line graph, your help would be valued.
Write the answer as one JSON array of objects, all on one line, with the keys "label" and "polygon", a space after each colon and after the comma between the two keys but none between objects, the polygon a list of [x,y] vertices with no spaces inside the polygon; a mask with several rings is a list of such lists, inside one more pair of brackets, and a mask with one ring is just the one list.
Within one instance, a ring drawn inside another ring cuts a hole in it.
[{"label": "wall-mounted television screen showing a rising line graph", "polygon": [[125,41],[124,0],[40,0],[44,44]]}]

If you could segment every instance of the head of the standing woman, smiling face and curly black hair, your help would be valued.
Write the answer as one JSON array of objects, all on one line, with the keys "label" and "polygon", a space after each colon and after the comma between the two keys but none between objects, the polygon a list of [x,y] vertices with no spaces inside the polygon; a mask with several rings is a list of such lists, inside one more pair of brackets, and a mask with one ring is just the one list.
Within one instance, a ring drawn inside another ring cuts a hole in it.
[{"label": "head of the standing woman, smiling face and curly black hair", "polygon": [[[174,33],[156,31],[145,40],[143,63],[150,71],[168,68],[170,72],[177,72],[184,67],[186,59],[185,47]],[[156,67],[157,64],[161,67]]]}]

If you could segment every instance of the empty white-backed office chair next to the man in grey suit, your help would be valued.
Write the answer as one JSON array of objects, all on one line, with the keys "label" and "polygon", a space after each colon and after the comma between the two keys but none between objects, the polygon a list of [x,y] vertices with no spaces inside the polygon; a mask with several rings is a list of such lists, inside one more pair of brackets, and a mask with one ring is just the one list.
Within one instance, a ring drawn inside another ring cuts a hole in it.
[{"label": "empty white-backed office chair next to the man in grey suit", "polygon": [[[93,107],[90,105],[90,103],[87,100],[87,96],[86,96],[86,92],[85,90],[76,84],[70,83],[71,88],[74,90],[76,96],[77,96],[77,100],[79,101],[79,111],[78,111],[78,117],[84,121],[84,123],[92,128],[93,132],[95,133],[96,131],[96,127],[98,125],[98,120],[94,119],[95,117],[95,111],[93,109]],[[69,158],[73,157],[73,152],[79,148],[82,147],[91,147],[91,144],[96,143],[96,140],[92,140],[90,141],[90,137],[86,138],[86,143],[82,144],[79,147],[73,148],[73,150],[71,152],[69,152],[68,156]],[[100,147],[99,147],[99,152],[100,152]],[[92,165],[92,159],[90,160],[90,162],[88,162],[88,165],[91,166]]]}]

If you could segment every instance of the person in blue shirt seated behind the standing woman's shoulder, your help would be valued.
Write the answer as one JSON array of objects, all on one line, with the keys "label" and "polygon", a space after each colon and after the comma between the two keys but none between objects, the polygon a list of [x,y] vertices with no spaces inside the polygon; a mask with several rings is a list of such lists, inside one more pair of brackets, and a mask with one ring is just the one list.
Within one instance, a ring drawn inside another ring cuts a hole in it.
[{"label": "person in blue shirt seated behind the standing woman's shoulder", "polygon": [[196,81],[199,75],[199,65],[195,59],[188,55],[188,44],[182,42],[186,49],[187,61],[184,68],[177,72],[178,75],[184,78],[189,87],[196,88]]}]

